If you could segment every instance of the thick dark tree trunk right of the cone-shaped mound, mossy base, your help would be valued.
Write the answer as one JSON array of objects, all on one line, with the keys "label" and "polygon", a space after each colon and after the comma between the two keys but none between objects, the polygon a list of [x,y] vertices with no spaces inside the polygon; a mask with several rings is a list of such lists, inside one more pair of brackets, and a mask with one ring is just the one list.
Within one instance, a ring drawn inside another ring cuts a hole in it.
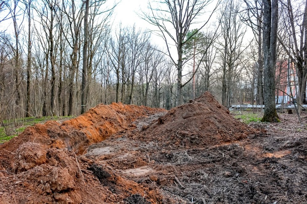
[{"label": "thick dark tree trunk right of the cone-shaped mound, mossy base", "polygon": [[275,106],[278,0],[263,0],[264,115],[262,122],[279,122]]}]

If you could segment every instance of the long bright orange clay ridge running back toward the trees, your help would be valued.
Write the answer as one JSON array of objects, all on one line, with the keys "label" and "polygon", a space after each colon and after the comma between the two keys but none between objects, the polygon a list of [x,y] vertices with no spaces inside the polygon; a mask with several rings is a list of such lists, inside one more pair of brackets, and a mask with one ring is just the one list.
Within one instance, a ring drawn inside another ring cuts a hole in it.
[{"label": "long bright orange clay ridge running back toward the trees", "polygon": [[[21,172],[35,165],[40,165],[44,161],[44,153],[38,153],[41,149],[66,148],[78,154],[83,154],[88,145],[100,142],[123,129],[135,128],[131,126],[135,119],[163,111],[165,110],[123,105],[122,103],[100,104],[79,117],[64,121],[62,124],[56,121],[36,124],[26,128],[17,137],[0,146],[0,176],[5,174],[3,172],[12,173],[16,168],[17,172]],[[32,144],[32,146],[24,145],[28,142],[36,144]],[[17,149],[20,149],[20,151],[17,151]],[[33,152],[34,149],[37,151]],[[23,151],[29,154],[23,154]],[[16,168],[14,168],[14,158],[16,159]]]}]

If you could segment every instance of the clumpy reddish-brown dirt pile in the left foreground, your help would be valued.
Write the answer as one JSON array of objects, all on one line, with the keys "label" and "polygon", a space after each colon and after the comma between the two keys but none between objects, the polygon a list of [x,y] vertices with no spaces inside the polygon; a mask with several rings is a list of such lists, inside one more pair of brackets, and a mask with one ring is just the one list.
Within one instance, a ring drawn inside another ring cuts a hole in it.
[{"label": "clumpy reddish-brown dirt pile in the left foreground", "polygon": [[33,147],[42,152],[42,146],[37,143],[21,145],[16,151],[16,157],[22,158],[22,162],[15,163],[18,173],[0,178],[0,203],[124,203],[135,194],[145,196],[152,203],[163,200],[156,190],[149,191],[88,158],[77,158],[67,149],[49,148],[40,154],[45,162],[26,170],[23,167],[29,165],[24,164],[42,161],[37,160],[37,155],[24,158],[33,155]]}]

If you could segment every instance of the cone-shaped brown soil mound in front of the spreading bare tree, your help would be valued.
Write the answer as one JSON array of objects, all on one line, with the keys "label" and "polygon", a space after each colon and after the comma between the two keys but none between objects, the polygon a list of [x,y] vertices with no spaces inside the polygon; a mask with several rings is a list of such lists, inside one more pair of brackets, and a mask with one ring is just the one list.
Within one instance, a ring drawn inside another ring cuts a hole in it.
[{"label": "cone-shaped brown soil mound in front of the spreading bare tree", "polygon": [[160,146],[204,147],[246,138],[256,130],[229,114],[209,93],[169,110],[135,139],[157,140]]}]

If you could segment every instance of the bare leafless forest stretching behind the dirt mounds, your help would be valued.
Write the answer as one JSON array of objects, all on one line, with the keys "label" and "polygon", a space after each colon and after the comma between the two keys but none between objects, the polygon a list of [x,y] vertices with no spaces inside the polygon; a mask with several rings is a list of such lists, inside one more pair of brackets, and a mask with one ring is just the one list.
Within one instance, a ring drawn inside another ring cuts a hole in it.
[{"label": "bare leafless forest stretching behind the dirt mounds", "polygon": [[[171,109],[205,91],[227,108],[264,104],[263,2],[174,1],[178,10],[172,2],[138,13],[155,28],[146,29],[112,24],[120,2],[2,1],[1,121],[75,116],[112,102]],[[305,104],[307,2],[272,8],[275,101]]]}]

